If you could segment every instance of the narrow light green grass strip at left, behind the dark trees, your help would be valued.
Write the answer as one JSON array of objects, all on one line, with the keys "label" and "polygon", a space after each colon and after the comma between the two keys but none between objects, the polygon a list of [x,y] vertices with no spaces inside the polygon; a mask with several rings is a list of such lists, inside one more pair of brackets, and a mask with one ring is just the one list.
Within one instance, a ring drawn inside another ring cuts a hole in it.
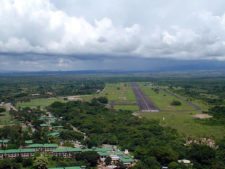
[{"label": "narrow light green grass strip at left, behind the dark trees", "polygon": [[31,108],[36,108],[40,106],[41,108],[45,108],[46,106],[49,106],[50,104],[60,101],[64,102],[63,98],[61,97],[53,97],[53,98],[39,98],[39,99],[32,99],[29,102],[19,102],[17,103],[17,107],[31,107]]}]

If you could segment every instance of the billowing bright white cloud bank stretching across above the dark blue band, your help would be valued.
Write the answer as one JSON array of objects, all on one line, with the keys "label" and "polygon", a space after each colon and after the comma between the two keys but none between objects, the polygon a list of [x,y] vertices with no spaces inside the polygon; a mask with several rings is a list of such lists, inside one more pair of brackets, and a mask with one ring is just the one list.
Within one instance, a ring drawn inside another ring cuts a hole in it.
[{"label": "billowing bright white cloud bank stretching across above the dark blue band", "polygon": [[225,15],[200,11],[188,20],[186,26],[115,25],[109,17],[90,22],[69,15],[50,0],[1,0],[0,52],[225,60]]}]

